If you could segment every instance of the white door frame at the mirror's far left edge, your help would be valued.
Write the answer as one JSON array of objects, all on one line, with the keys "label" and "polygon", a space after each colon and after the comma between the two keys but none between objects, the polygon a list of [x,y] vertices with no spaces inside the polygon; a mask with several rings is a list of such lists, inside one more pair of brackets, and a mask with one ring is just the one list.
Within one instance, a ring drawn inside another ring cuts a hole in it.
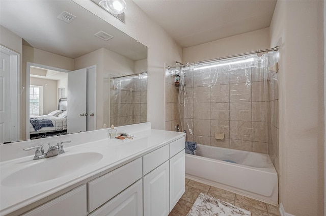
[{"label": "white door frame at the mirror's far left edge", "polygon": [[10,55],[10,141],[20,140],[20,54],[0,45],[0,49]]}]

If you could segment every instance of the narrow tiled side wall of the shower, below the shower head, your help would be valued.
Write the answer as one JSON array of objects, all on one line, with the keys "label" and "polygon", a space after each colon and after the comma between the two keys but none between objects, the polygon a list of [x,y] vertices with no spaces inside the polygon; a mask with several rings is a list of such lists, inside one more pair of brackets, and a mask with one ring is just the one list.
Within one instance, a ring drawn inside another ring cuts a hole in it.
[{"label": "narrow tiled side wall of the shower, below the shower head", "polygon": [[175,131],[176,125],[181,128],[180,105],[178,103],[178,91],[174,84],[174,72],[166,71],[166,130]]}]

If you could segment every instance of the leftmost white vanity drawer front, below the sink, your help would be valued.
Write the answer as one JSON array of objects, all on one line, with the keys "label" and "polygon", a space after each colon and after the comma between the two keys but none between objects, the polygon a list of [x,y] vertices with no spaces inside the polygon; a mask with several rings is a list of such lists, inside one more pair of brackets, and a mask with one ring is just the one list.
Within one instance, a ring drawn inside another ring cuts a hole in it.
[{"label": "leftmost white vanity drawer front, below the sink", "polygon": [[86,209],[86,184],[63,194],[22,216],[58,216],[58,215],[75,215],[85,216]]}]

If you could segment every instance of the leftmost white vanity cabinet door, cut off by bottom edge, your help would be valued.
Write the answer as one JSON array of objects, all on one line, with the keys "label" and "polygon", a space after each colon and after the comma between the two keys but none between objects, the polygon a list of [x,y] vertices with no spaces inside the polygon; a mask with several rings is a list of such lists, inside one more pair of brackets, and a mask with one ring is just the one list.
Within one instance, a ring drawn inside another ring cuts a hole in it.
[{"label": "leftmost white vanity cabinet door, cut off by bottom edge", "polygon": [[143,181],[140,179],[89,216],[143,216],[142,184]]}]

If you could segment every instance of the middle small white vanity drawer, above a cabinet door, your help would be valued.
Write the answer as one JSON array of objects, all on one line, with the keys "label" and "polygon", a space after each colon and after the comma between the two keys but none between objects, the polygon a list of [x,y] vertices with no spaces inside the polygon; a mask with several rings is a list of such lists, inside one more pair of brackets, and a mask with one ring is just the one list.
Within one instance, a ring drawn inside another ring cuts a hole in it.
[{"label": "middle small white vanity drawer, above a cabinet door", "polygon": [[143,156],[143,175],[169,160],[169,145],[165,145]]}]

